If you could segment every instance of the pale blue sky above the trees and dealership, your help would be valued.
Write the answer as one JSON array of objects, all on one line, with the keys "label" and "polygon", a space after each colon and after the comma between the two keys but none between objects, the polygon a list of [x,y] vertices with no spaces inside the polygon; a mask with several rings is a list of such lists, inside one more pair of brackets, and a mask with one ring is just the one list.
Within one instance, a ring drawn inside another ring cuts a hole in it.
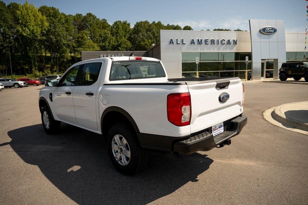
[{"label": "pale blue sky above the trees and dealership", "polygon": [[[25,0],[8,1],[25,3]],[[65,14],[91,12],[109,23],[127,20],[131,26],[137,21],[161,21],[163,24],[192,26],[193,30],[229,28],[249,30],[249,19],[284,20],[286,31],[304,32],[306,28],[305,0],[28,0],[36,7],[47,5]]]}]

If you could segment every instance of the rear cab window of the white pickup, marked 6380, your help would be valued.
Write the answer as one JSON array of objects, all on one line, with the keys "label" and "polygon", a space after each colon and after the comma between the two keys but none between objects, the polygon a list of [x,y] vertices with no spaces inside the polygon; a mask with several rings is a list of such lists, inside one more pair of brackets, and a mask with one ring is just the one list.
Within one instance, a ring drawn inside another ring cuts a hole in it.
[{"label": "rear cab window of the white pickup, marked 6380", "polygon": [[114,81],[153,77],[166,77],[158,61],[115,61],[112,62],[109,79]]}]

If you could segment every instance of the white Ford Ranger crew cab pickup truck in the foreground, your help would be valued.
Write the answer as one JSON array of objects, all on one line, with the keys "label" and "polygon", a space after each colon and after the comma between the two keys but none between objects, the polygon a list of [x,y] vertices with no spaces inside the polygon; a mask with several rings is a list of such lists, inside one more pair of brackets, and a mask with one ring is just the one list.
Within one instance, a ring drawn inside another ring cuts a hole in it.
[{"label": "white Ford Ranger crew cab pickup truck in the foreground", "polygon": [[238,77],[168,79],[149,57],[106,57],[78,62],[48,79],[39,92],[47,133],[60,122],[106,136],[112,163],[134,174],[147,150],[190,154],[230,144],[247,122]]}]

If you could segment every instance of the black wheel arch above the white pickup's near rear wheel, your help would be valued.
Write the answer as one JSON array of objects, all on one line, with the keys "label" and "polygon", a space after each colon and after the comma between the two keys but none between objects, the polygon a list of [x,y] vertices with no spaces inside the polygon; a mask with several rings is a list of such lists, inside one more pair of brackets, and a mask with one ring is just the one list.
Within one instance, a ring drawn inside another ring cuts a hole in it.
[{"label": "black wheel arch above the white pickup's near rear wheel", "polygon": [[[119,119],[117,117],[119,117]],[[115,122],[123,122],[123,120],[128,123],[128,125],[131,126],[135,132],[140,132],[135,120],[128,112],[122,108],[111,106],[106,108],[101,116],[100,126],[102,135],[107,135],[107,132],[112,124]]]}]

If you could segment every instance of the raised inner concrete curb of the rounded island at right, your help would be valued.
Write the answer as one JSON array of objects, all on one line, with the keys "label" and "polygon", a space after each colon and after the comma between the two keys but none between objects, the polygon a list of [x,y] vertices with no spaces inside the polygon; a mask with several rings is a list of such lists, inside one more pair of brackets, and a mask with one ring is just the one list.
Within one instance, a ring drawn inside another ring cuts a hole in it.
[{"label": "raised inner concrete curb of the rounded island at right", "polygon": [[[304,102],[308,103],[308,101],[304,101]],[[297,120],[291,117],[286,118],[286,116],[280,111],[283,106],[290,105],[290,104],[298,104],[298,103],[303,103],[303,102],[287,103],[287,104],[282,104],[282,105],[275,107],[274,112],[273,112],[273,118],[274,120],[280,123],[289,124],[296,128],[308,131],[308,124],[306,124],[304,121]]]}]

